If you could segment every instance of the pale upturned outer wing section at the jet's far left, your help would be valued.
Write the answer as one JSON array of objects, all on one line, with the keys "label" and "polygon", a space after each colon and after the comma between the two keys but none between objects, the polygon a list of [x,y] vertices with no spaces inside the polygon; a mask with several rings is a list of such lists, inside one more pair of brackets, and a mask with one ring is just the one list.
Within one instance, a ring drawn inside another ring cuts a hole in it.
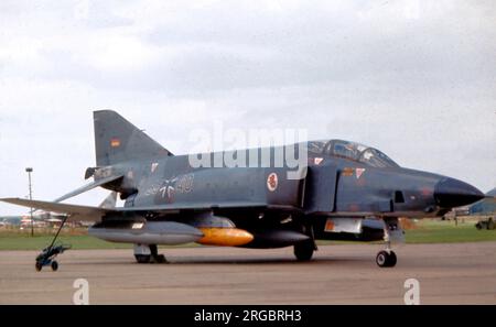
[{"label": "pale upturned outer wing section at the jet's far left", "polygon": [[42,209],[50,212],[67,214],[69,216],[69,220],[99,221],[101,220],[101,216],[114,211],[112,209],[105,209],[99,207],[67,205],[54,201],[29,200],[23,198],[2,198],[0,200],[28,208]]}]

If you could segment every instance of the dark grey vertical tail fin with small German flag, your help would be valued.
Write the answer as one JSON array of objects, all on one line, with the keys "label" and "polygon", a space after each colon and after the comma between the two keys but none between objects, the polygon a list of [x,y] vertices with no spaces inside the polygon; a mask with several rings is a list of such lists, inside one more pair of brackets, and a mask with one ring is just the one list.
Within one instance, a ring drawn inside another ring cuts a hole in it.
[{"label": "dark grey vertical tail fin with small German flag", "polygon": [[114,165],[142,157],[172,155],[119,113],[94,112],[97,166]]}]

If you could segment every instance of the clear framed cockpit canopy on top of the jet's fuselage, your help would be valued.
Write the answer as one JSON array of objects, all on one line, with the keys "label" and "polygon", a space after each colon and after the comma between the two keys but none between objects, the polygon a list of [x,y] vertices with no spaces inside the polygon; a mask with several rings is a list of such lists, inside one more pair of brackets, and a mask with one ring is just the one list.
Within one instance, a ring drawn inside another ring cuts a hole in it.
[{"label": "clear framed cockpit canopy on top of the jet's fuselage", "polygon": [[309,151],[315,154],[344,157],[366,165],[385,168],[399,167],[389,156],[377,149],[344,140],[311,141]]}]

